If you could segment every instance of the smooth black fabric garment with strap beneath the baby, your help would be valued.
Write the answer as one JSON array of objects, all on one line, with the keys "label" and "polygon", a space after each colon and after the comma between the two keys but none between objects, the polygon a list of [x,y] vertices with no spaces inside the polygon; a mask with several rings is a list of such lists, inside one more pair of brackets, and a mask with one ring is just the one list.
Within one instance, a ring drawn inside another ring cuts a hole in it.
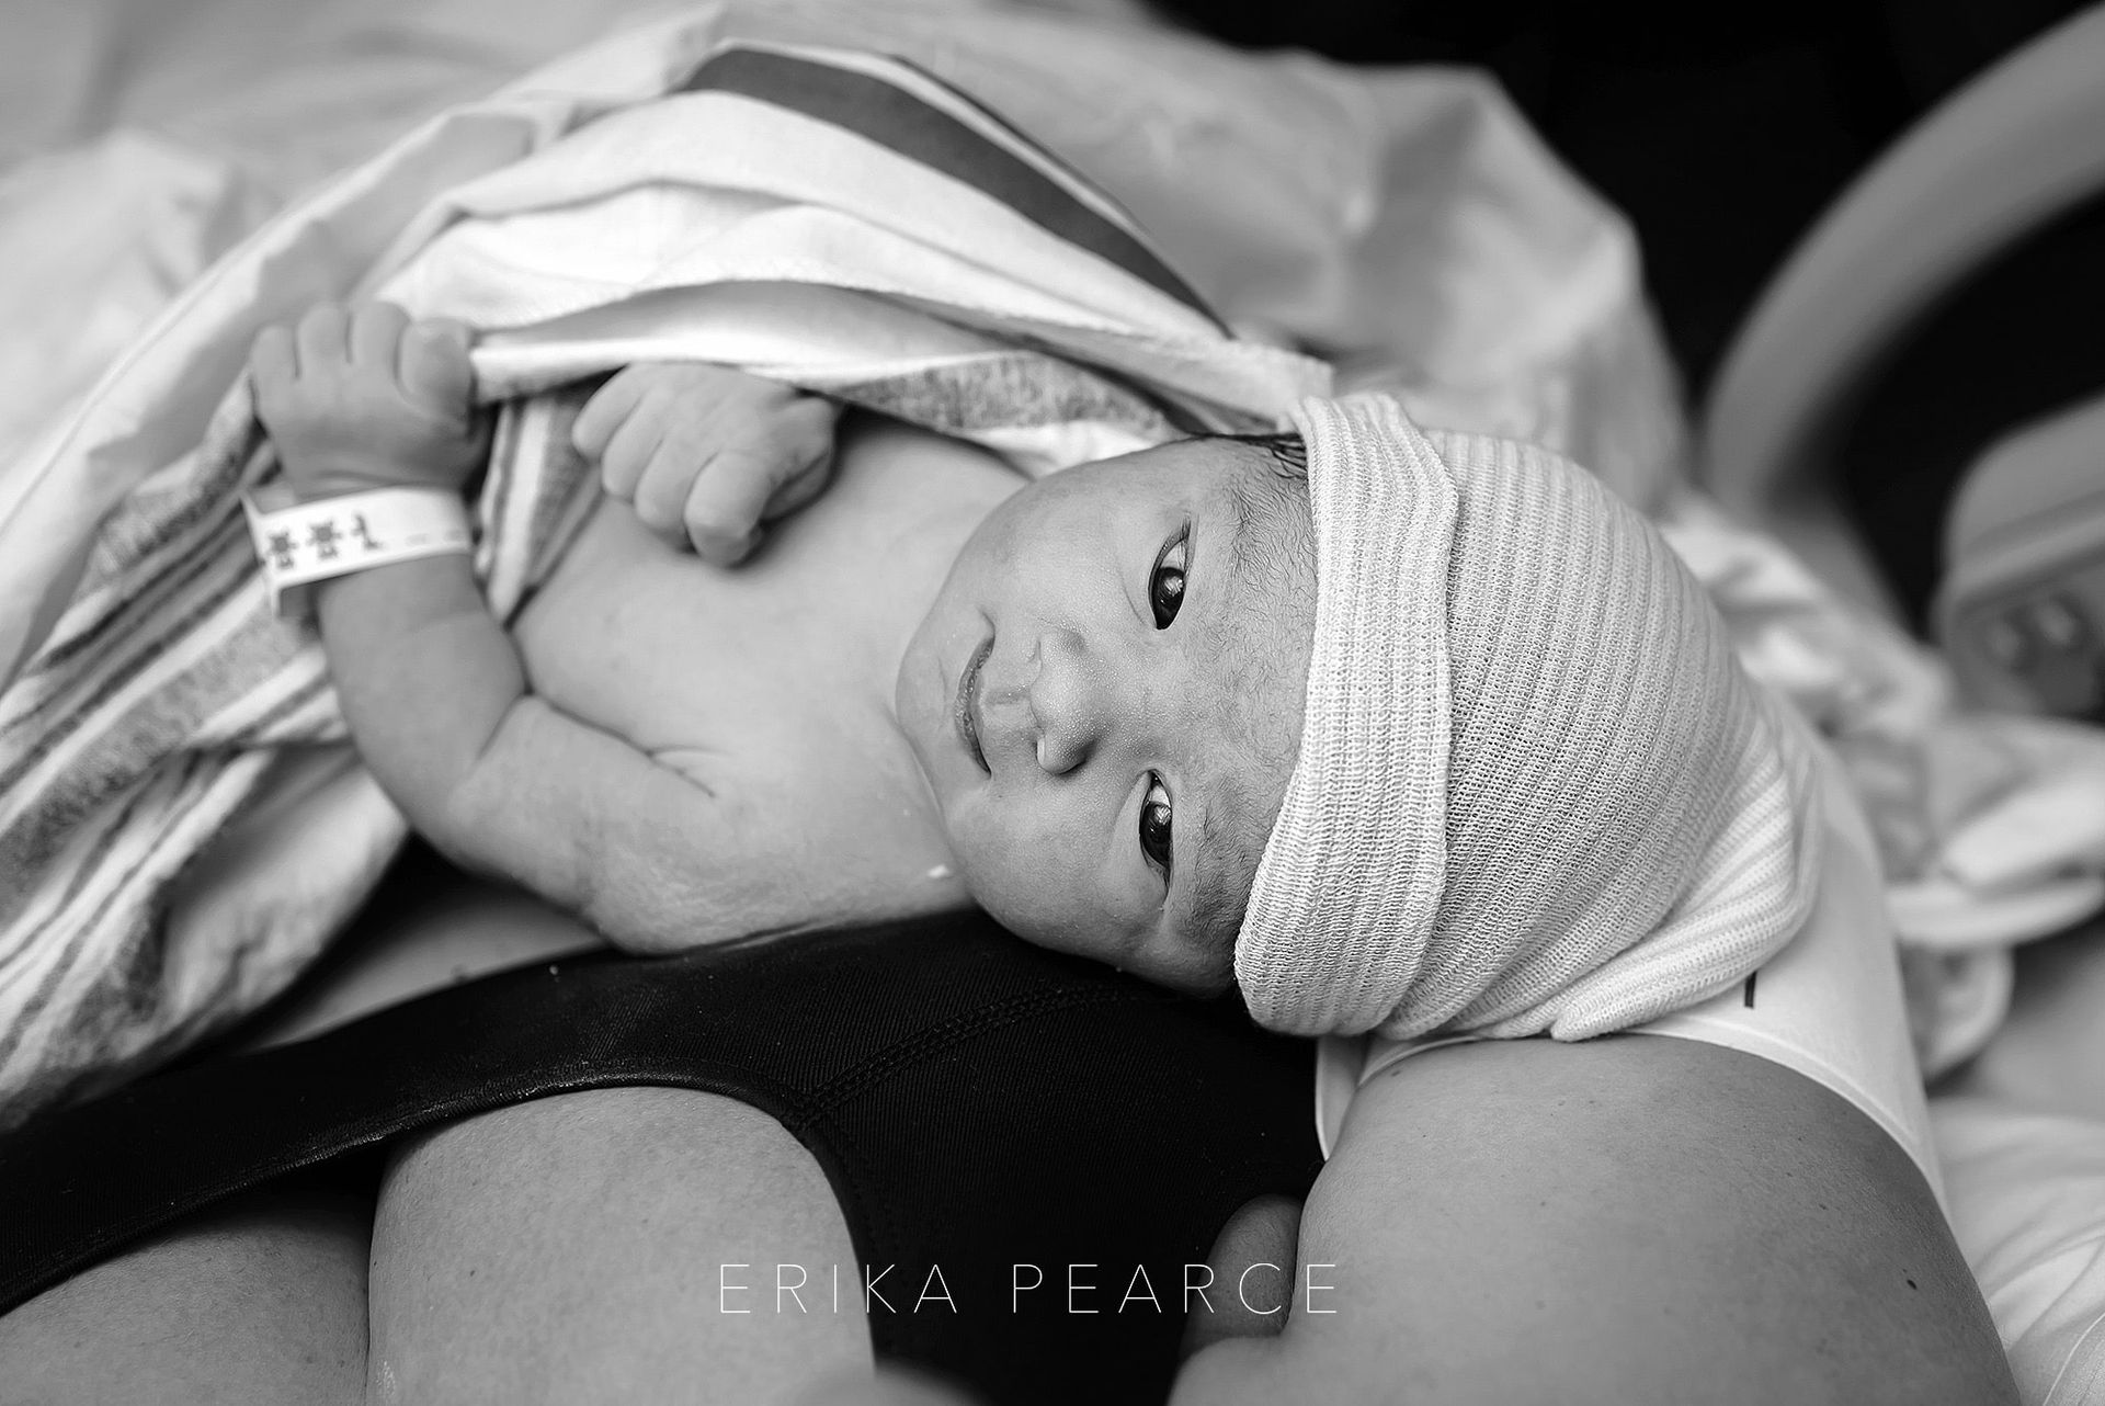
[{"label": "smooth black fabric garment with strap beneath the baby", "polygon": [[[1244,1200],[1314,1181],[1311,1048],[977,916],[537,964],[0,1139],[0,1311],[284,1172],[667,1084],[751,1103],[817,1156],[880,1276],[880,1355],[989,1402],[1160,1402],[1183,1267]],[[1017,1265],[1042,1286],[1015,1292]]]}]

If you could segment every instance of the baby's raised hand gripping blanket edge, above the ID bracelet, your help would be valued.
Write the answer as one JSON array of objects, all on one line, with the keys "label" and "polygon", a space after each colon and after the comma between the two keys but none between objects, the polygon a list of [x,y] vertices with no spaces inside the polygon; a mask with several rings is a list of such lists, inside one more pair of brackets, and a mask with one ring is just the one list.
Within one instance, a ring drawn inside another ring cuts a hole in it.
[{"label": "baby's raised hand gripping blanket edge, above the ID bracelet", "polygon": [[459,493],[488,457],[459,322],[410,322],[392,303],[309,307],[248,352],[257,419],[303,499],[362,488]]}]

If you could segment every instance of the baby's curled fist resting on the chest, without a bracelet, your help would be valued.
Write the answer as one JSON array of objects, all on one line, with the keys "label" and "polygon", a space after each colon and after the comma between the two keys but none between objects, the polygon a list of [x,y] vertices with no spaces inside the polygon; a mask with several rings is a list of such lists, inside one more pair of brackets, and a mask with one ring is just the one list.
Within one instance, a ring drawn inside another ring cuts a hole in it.
[{"label": "baby's curled fist resting on the chest, without a bracelet", "polygon": [[570,438],[646,528],[733,566],[762,522],[825,488],[838,417],[829,400],[743,370],[640,362],[594,394]]}]

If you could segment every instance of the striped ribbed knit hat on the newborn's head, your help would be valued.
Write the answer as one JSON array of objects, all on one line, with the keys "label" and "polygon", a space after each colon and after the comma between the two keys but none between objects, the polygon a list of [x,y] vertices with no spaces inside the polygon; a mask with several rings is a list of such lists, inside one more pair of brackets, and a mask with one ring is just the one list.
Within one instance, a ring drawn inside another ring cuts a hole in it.
[{"label": "striped ribbed knit hat on the newborn's head", "polygon": [[1303,400],[1316,640],[1236,939],[1252,1017],[1581,1040],[1747,977],[1819,869],[1817,743],[1665,539],[1528,444]]}]

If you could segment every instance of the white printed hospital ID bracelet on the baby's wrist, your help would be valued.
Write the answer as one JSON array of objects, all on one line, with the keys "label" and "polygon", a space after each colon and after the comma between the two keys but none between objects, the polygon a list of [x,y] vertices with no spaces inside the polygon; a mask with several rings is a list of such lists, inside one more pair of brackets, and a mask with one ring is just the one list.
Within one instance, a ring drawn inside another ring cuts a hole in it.
[{"label": "white printed hospital ID bracelet on the baby's wrist", "polygon": [[242,511],[278,617],[305,615],[316,581],[474,547],[467,505],[444,488],[368,488],[276,509],[244,493]]}]

